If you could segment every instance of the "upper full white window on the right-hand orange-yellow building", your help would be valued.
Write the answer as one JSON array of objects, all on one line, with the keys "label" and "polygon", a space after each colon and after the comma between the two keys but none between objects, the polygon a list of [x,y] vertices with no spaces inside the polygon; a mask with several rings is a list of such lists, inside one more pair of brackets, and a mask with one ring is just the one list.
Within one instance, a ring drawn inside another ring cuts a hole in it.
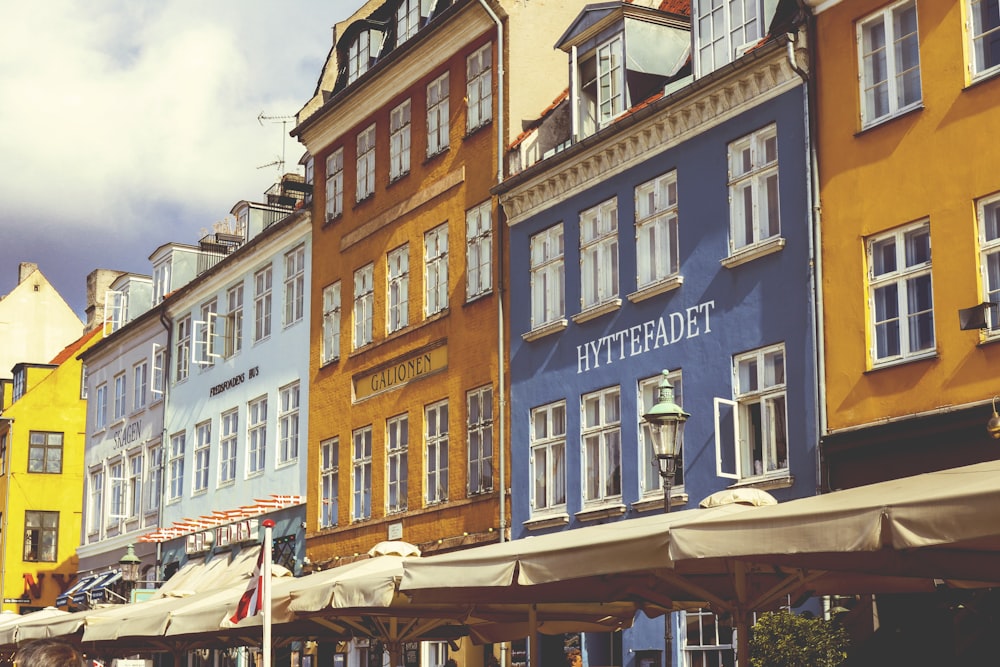
[{"label": "upper full white window on the right-hand orange-yellow building", "polygon": [[863,126],[920,104],[916,0],[897,2],[859,22],[858,51]]}]

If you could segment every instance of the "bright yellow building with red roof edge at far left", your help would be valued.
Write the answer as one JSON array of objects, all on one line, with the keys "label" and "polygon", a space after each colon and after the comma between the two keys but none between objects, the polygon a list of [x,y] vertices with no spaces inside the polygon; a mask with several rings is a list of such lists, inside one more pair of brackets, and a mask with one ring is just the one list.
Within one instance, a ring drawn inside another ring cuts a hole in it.
[{"label": "bright yellow building with red roof edge at far left", "polygon": [[12,401],[0,415],[4,611],[55,605],[76,576],[87,420],[77,355],[99,340],[97,328],[50,364],[14,366]]}]

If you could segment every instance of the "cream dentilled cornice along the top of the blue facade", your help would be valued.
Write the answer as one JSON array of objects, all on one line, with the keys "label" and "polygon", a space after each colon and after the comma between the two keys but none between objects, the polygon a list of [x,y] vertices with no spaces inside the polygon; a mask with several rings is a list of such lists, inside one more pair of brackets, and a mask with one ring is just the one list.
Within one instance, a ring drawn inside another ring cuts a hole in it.
[{"label": "cream dentilled cornice along the top of the blue facade", "polygon": [[[782,45],[783,46],[783,45]],[[610,176],[645,162],[678,144],[802,85],[789,65],[784,48],[753,54],[729,72],[706,85],[695,81],[688,88],[654,102],[647,110],[625,116],[600,133],[593,146],[571,158],[550,158],[549,168],[539,163],[536,177],[526,178],[500,194],[500,204],[513,226],[538,215],[552,205],[577,195]],[[692,90],[692,88],[694,90]],[[641,114],[641,118],[639,118]],[[587,143],[587,139],[583,143]],[[572,150],[572,149],[570,149]]]}]

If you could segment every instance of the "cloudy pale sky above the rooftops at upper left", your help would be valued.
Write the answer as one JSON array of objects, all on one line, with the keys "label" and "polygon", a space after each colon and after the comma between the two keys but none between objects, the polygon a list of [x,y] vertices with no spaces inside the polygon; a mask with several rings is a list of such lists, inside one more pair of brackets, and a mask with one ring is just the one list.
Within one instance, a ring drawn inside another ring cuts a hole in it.
[{"label": "cloudy pale sky above the rooftops at upper left", "polygon": [[[332,26],[363,0],[0,0],[0,295],[34,262],[83,319],[93,269],[148,275],[304,148]],[[273,117],[260,120],[260,115]]]}]

